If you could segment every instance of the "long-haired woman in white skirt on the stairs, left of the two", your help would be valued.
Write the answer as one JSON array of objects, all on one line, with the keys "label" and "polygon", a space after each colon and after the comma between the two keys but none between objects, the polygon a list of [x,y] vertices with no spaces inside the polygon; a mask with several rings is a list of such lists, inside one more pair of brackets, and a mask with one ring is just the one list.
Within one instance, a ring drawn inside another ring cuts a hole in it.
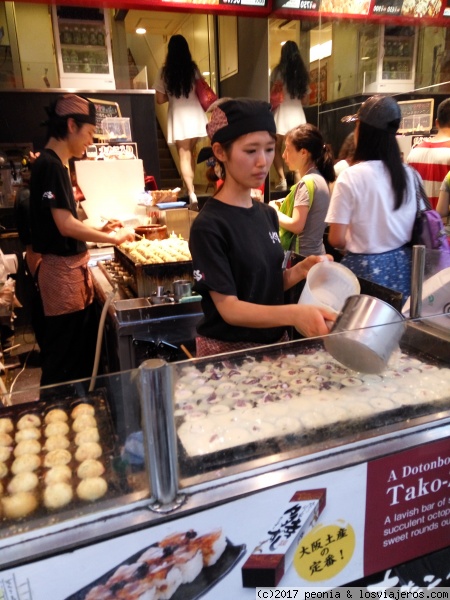
[{"label": "long-haired woman in white skirt on the stairs, left of the two", "polygon": [[166,62],[153,87],[156,102],[169,103],[167,142],[177,148],[181,176],[191,205],[197,204],[194,190],[195,148],[199,138],[206,136],[207,123],[195,93],[195,82],[200,78],[186,39],[182,35],[173,35],[169,40]]}]

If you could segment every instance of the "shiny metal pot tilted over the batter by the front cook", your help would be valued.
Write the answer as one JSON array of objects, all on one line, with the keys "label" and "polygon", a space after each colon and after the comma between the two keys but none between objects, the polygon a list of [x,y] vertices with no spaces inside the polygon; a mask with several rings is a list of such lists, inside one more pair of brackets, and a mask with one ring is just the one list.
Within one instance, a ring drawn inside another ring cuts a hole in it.
[{"label": "shiny metal pot tilted over the batter by the front cook", "polygon": [[347,298],[324,345],[337,361],[354,371],[381,373],[404,329],[403,316],[390,304],[359,294]]}]

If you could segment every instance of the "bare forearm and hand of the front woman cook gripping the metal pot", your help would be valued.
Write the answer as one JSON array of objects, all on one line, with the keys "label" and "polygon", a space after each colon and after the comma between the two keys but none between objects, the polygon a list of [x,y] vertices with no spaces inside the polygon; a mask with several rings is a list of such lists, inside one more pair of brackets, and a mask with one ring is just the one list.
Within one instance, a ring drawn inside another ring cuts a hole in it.
[{"label": "bare forearm and hand of the front woman cook gripping the metal pot", "polygon": [[267,306],[244,302],[236,296],[210,292],[222,319],[237,327],[295,327],[306,337],[322,336],[329,332],[325,322],[334,321],[336,315],[328,310],[306,304]]}]

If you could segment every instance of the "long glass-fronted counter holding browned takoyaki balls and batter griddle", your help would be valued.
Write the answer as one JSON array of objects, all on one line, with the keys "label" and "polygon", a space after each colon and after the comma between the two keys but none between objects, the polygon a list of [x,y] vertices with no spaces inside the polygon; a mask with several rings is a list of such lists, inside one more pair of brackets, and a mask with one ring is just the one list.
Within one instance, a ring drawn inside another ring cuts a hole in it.
[{"label": "long glass-fronted counter holding browned takoyaki balls and batter griddle", "polygon": [[[388,336],[390,326],[376,334]],[[316,338],[208,359],[152,359],[132,371],[37,389],[36,401],[25,404],[21,392],[6,395],[2,565],[167,519],[166,512],[183,514],[183,497],[190,510],[196,503],[203,510],[227,481],[251,486],[254,476],[286,464],[303,475],[329,469],[324,460],[341,468],[384,455],[399,436],[407,447],[410,433],[417,445],[422,430],[449,420],[449,348],[440,315],[405,321],[400,347],[379,375],[350,371]],[[36,439],[27,437],[28,445],[36,449],[26,454],[35,455],[35,485],[18,492],[11,484],[17,448],[31,429]],[[96,467],[87,475],[80,468],[86,460]],[[64,489],[49,479],[61,466],[57,472],[69,467],[57,481]],[[93,489],[84,489],[86,478]],[[205,484],[209,491],[197,496]]]}]

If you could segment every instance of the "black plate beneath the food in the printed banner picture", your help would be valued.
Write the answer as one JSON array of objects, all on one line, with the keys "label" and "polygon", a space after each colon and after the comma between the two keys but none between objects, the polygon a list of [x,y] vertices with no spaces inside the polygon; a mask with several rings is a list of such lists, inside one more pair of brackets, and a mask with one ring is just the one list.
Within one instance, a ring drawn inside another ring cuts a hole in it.
[{"label": "black plate beneath the food in the printed banner picture", "polygon": [[[129,565],[142,556],[142,554],[148,548],[144,548],[130,556],[127,560],[84,587],[82,590],[68,596],[65,600],[84,600],[90,590],[97,586],[105,584],[108,579],[114,575],[117,569],[122,565]],[[227,538],[227,545],[225,547],[222,556],[219,560],[210,567],[203,567],[199,575],[191,583],[183,583],[173,594],[170,600],[197,600],[201,598],[206,592],[208,592],[213,586],[216,585],[221,579],[231,571],[231,569],[238,563],[239,559],[244,555],[246,551],[245,544],[235,546]]]}]

